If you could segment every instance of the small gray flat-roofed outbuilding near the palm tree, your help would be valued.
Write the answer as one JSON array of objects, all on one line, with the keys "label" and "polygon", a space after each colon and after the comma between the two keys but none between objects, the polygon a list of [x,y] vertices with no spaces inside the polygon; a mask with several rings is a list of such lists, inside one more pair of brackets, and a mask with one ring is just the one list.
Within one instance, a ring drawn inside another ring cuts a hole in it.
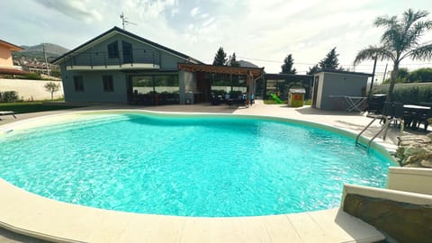
[{"label": "small gray flat-roofed outbuilding near the palm tree", "polygon": [[347,109],[347,100],[365,98],[369,76],[372,75],[337,70],[318,71],[313,77],[312,107],[323,110]]}]

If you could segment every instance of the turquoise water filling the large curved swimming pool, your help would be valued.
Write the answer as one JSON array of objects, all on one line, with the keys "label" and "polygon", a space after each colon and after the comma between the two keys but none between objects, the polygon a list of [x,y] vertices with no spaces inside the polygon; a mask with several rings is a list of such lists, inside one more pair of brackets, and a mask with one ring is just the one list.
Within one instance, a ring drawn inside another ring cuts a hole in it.
[{"label": "turquoise water filling the large curved swimming pool", "polygon": [[0,138],[0,177],[116,211],[251,216],[337,207],[344,183],[383,187],[392,161],[284,121],[94,113]]}]

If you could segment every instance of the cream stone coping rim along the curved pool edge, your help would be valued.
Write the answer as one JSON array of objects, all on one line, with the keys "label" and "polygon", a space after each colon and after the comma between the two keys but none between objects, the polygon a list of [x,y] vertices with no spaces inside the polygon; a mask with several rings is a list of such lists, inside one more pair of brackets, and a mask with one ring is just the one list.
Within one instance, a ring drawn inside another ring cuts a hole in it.
[{"label": "cream stone coping rim along the curved pool edge", "polygon": [[[313,123],[331,128],[327,124],[274,116],[129,109],[72,111],[43,118],[112,111],[265,117],[276,121],[297,121],[308,125]],[[16,125],[25,125],[40,118],[42,117],[5,124],[0,126],[0,131],[5,133]],[[347,132],[353,135],[352,131]],[[55,242],[286,242],[287,238],[291,242],[374,242],[384,239],[383,234],[374,227],[338,208],[256,217],[182,217],[109,211],[58,202],[26,192],[3,179],[0,179],[0,192],[0,227]]]}]

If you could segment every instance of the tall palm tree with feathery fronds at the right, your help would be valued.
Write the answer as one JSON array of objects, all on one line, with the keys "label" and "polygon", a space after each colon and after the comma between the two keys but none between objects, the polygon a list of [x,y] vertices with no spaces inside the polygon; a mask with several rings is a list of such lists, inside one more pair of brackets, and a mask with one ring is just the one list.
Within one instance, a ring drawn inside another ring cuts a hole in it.
[{"label": "tall palm tree with feathery fronds at the right", "polygon": [[412,9],[405,11],[402,18],[397,16],[382,16],[375,19],[376,27],[385,27],[386,30],[381,37],[381,46],[369,46],[357,53],[354,65],[356,66],[365,59],[380,58],[391,59],[393,70],[391,75],[389,97],[392,101],[394,84],[399,73],[399,64],[403,58],[431,59],[432,43],[421,45],[419,39],[425,31],[432,29],[432,21],[421,21],[428,16],[427,11],[414,12]]}]

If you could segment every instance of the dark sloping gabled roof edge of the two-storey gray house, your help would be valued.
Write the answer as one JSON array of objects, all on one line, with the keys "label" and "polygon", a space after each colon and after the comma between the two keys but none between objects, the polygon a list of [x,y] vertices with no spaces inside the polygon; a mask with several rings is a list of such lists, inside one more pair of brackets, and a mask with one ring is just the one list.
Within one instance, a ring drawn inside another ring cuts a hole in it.
[{"label": "dark sloping gabled roof edge of the two-storey gray house", "polygon": [[138,35],[136,35],[134,33],[131,33],[130,31],[125,31],[125,30],[123,30],[123,29],[121,29],[121,28],[119,28],[117,26],[114,26],[111,30],[105,31],[102,34],[94,37],[94,39],[92,39],[92,40],[86,41],[84,44],[78,46],[76,49],[72,49],[72,50],[68,51],[67,53],[63,54],[62,56],[60,56],[58,58],[55,58],[54,60],[51,61],[51,63],[52,64],[62,63],[63,58],[66,58],[67,56],[73,56],[77,52],[84,51],[85,49],[89,49],[89,48],[91,48],[93,46],[92,44],[96,44],[96,43],[98,43],[98,42],[100,42],[102,40],[110,38],[110,37],[112,37],[116,33],[120,33],[120,34],[128,36],[128,37],[130,37],[132,39],[139,40],[140,42],[146,43],[149,46],[152,46],[152,47],[154,47],[156,49],[161,49],[163,51],[166,51],[166,52],[168,52],[170,54],[173,54],[173,55],[175,55],[175,56],[177,56],[179,58],[184,58],[184,59],[192,61],[194,63],[202,63],[201,61],[199,61],[199,60],[197,60],[195,58],[191,58],[191,57],[189,57],[189,56],[187,56],[187,55],[185,55],[185,54],[183,54],[181,52],[178,52],[178,51],[176,51],[174,49],[169,49],[169,48],[167,48],[165,46],[157,44],[156,42],[153,42],[151,40],[147,40],[145,38],[142,38],[142,37],[140,37],[140,36],[138,36]]}]

